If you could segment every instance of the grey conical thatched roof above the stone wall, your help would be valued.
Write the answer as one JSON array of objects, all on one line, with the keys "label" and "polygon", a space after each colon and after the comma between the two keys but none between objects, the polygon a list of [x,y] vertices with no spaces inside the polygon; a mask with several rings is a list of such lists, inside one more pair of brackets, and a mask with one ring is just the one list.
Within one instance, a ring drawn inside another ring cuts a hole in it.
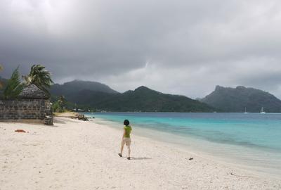
[{"label": "grey conical thatched roof above the stone wall", "polygon": [[36,85],[30,84],[20,93],[22,99],[49,99],[50,96],[45,91],[39,89]]}]

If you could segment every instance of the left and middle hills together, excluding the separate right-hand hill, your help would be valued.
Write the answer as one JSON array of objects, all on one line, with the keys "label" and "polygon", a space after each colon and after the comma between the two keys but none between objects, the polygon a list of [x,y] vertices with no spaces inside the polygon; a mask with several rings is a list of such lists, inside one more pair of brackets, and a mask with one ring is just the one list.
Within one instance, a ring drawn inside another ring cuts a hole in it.
[{"label": "left and middle hills together, excluding the separate right-hand hill", "polygon": [[[64,95],[68,101],[96,108],[97,110],[148,112],[214,111],[214,108],[200,101],[181,95],[163,94],[162,92],[155,91],[145,86],[119,93],[101,83],[91,83],[94,85],[89,86],[83,85],[84,82],[79,81],[79,87],[76,87],[77,85],[73,83],[76,84],[77,81],[62,85],[54,84],[54,87],[51,88],[51,94],[55,96]],[[100,85],[103,85],[103,88],[100,88]]]}]

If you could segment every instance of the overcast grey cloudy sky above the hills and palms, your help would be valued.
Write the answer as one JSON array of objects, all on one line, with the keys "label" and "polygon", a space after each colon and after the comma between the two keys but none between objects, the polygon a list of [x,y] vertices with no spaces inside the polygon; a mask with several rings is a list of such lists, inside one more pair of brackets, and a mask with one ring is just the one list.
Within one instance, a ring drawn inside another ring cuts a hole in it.
[{"label": "overcast grey cloudy sky above the hills and palms", "polygon": [[281,1],[0,0],[2,77],[204,97],[216,85],[281,98]]}]

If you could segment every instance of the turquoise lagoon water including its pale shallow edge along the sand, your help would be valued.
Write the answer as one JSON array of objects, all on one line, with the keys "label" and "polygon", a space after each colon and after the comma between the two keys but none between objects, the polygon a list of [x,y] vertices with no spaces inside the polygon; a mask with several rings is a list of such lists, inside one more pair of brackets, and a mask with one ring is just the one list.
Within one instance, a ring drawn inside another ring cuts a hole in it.
[{"label": "turquoise lagoon water including its pale shallow edge along the sand", "polygon": [[281,114],[85,113],[122,127],[124,119],[147,137],[190,146],[281,175]]}]

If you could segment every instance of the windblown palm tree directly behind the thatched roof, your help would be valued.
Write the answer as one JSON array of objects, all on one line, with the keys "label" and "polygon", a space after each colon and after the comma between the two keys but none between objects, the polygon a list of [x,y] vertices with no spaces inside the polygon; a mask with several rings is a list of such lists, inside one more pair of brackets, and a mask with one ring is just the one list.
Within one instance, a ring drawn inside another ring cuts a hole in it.
[{"label": "windblown palm tree directly behind the thatched roof", "polygon": [[26,85],[34,84],[49,94],[48,88],[53,84],[53,80],[51,80],[51,73],[43,65],[32,65],[30,74],[22,77]]}]

